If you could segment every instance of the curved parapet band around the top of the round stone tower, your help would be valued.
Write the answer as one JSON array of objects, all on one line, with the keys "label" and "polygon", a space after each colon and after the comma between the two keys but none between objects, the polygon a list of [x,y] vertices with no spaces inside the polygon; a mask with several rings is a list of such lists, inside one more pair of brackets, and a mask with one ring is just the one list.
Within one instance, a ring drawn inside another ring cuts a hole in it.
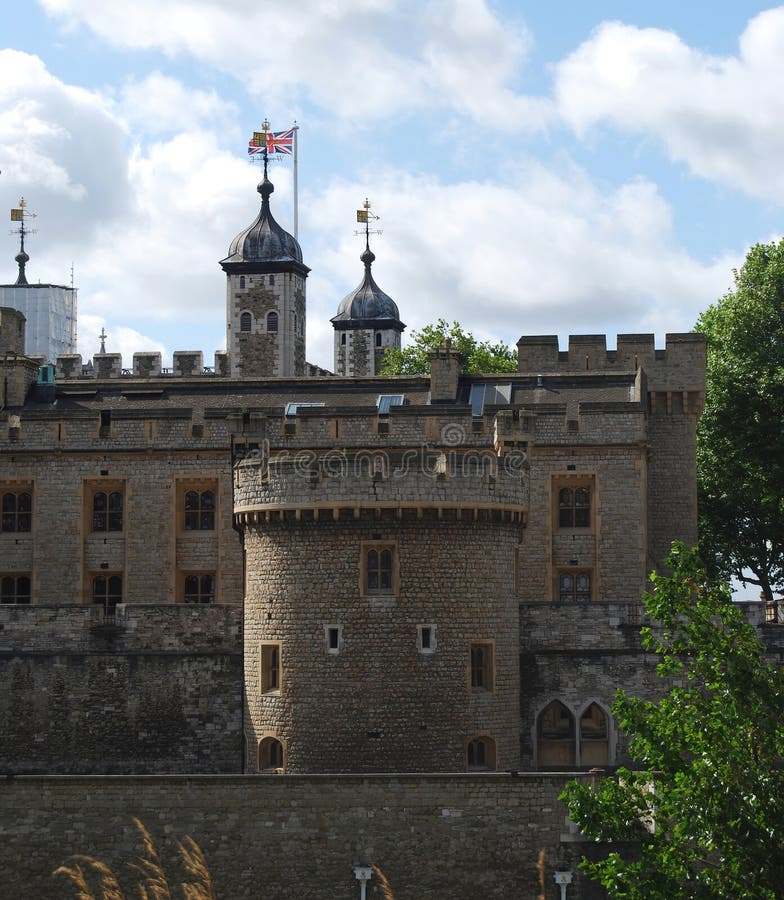
[{"label": "curved parapet band around the top of the round stone tower", "polygon": [[383,510],[402,517],[435,510],[471,521],[524,521],[528,477],[522,454],[492,450],[332,451],[267,456],[235,466],[234,514],[245,525],[320,516],[339,521]]}]

